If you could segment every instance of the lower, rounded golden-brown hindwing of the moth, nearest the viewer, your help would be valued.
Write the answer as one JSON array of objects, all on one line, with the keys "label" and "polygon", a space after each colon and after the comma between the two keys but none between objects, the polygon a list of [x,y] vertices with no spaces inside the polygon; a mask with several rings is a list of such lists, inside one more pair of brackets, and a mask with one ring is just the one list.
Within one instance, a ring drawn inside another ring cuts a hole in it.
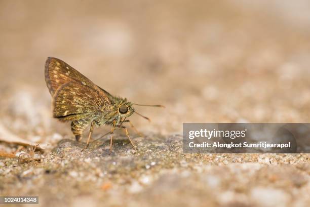
[{"label": "lower, rounded golden-brown hindwing of the moth, nearest the viewer", "polygon": [[53,116],[59,120],[75,120],[102,113],[109,105],[107,96],[80,82],[67,82],[57,89],[53,101]]}]

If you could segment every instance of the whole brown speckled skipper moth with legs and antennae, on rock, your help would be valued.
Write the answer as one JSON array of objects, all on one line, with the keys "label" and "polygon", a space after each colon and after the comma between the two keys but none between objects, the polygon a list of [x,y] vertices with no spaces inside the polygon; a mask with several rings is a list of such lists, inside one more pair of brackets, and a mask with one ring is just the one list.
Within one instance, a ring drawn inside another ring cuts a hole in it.
[{"label": "whole brown speckled skipper moth with legs and antennae, on rock", "polygon": [[[127,128],[122,125],[124,122],[129,122],[135,129],[130,120],[125,120],[134,112],[142,116],[133,108],[133,105],[163,107],[134,104],[126,98],[112,96],[64,61],[53,57],[48,57],[45,63],[45,81],[53,97],[54,118],[60,121],[71,121],[71,131],[76,141],[82,139],[83,131],[90,126],[87,145],[84,149],[89,145],[94,127],[101,125],[112,126],[108,133],[111,134],[110,152],[115,128],[124,129],[130,143],[136,148]],[[149,120],[145,116],[142,117]]]}]

